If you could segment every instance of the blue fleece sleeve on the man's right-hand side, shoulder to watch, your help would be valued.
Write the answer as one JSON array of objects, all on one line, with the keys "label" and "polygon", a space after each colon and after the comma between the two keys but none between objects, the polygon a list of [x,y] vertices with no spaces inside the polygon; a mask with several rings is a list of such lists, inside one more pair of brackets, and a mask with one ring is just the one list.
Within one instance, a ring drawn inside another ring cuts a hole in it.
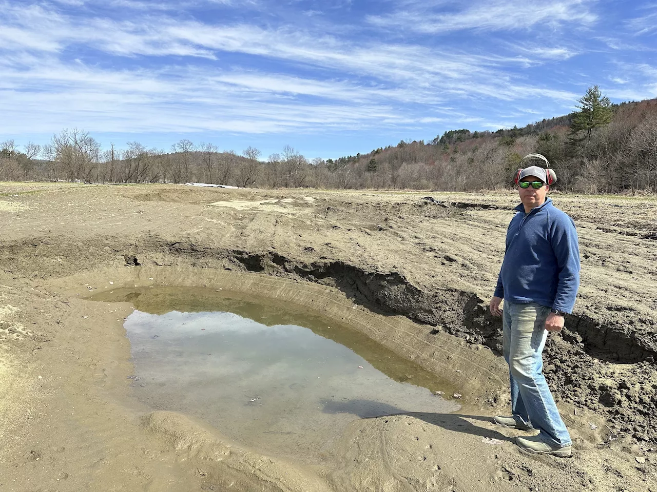
[{"label": "blue fleece sleeve on the man's right-hand side, shoulder to watch", "polygon": [[575,223],[564,214],[553,217],[552,249],[555,252],[558,283],[553,308],[572,313],[579,288],[579,241]]}]

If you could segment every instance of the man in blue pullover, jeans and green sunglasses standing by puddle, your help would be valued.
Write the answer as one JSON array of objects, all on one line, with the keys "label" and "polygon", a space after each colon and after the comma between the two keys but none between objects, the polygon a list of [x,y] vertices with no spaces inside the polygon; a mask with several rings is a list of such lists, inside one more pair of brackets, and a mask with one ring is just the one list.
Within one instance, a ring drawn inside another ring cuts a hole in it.
[{"label": "man in blue pullover, jeans and green sunglasses standing by puddle", "polygon": [[504,261],[489,306],[493,316],[503,316],[512,416],[493,421],[539,430],[537,436],[516,438],[524,451],[570,457],[572,441],[543,376],[542,353],[548,331],[560,331],[564,314],[575,304],[579,245],[572,218],[547,198],[548,178],[538,166],[518,176],[522,204],[507,230]]}]

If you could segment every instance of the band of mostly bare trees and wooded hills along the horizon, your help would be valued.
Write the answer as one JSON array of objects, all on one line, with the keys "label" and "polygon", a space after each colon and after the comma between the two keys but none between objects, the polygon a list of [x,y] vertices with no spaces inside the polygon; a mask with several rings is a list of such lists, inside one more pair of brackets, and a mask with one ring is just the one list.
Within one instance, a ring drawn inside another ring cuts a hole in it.
[{"label": "band of mostly bare trees and wooded hills along the horizon", "polygon": [[508,188],[522,156],[538,152],[561,190],[657,192],[657,99],[614,105],[594,86],[578,102],[576,112],[522,128],[446,131],[338,159],[307,159],[290,146],[261,159],[254,147],[237,154],[187,139],[170,152],[139,142],[102,149],[89,133],[66,129],[43,146],[0,144],[0,180],[471,191]]}]

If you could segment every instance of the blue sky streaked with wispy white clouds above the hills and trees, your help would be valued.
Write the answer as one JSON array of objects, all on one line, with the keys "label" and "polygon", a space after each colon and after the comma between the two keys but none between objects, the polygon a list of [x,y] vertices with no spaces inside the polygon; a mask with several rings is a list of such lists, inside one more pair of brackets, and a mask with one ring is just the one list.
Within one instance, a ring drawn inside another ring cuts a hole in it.
[{"label": "blue sky streaked with wispy white clouds above the hills and trees", "polygon": [[0,140],[369,152],[657,97],[657,1],[0,0]]}]

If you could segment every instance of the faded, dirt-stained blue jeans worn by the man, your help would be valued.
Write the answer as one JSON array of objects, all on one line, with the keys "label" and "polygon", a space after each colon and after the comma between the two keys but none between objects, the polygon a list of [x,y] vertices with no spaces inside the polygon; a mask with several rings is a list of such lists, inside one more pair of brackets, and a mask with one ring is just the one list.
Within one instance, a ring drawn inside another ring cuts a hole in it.
[{"label": "faded, dirt-stained blue jeans worn by the man", "polygon": [[530,302],[504,302],[502,316],[504,358],[509,364],[511,411],[516,420],[541,431],[545,442],[571,445],[570,434],[556,409],[543,376],[543,347],[547,340],[545,319],[550,308]]}]

